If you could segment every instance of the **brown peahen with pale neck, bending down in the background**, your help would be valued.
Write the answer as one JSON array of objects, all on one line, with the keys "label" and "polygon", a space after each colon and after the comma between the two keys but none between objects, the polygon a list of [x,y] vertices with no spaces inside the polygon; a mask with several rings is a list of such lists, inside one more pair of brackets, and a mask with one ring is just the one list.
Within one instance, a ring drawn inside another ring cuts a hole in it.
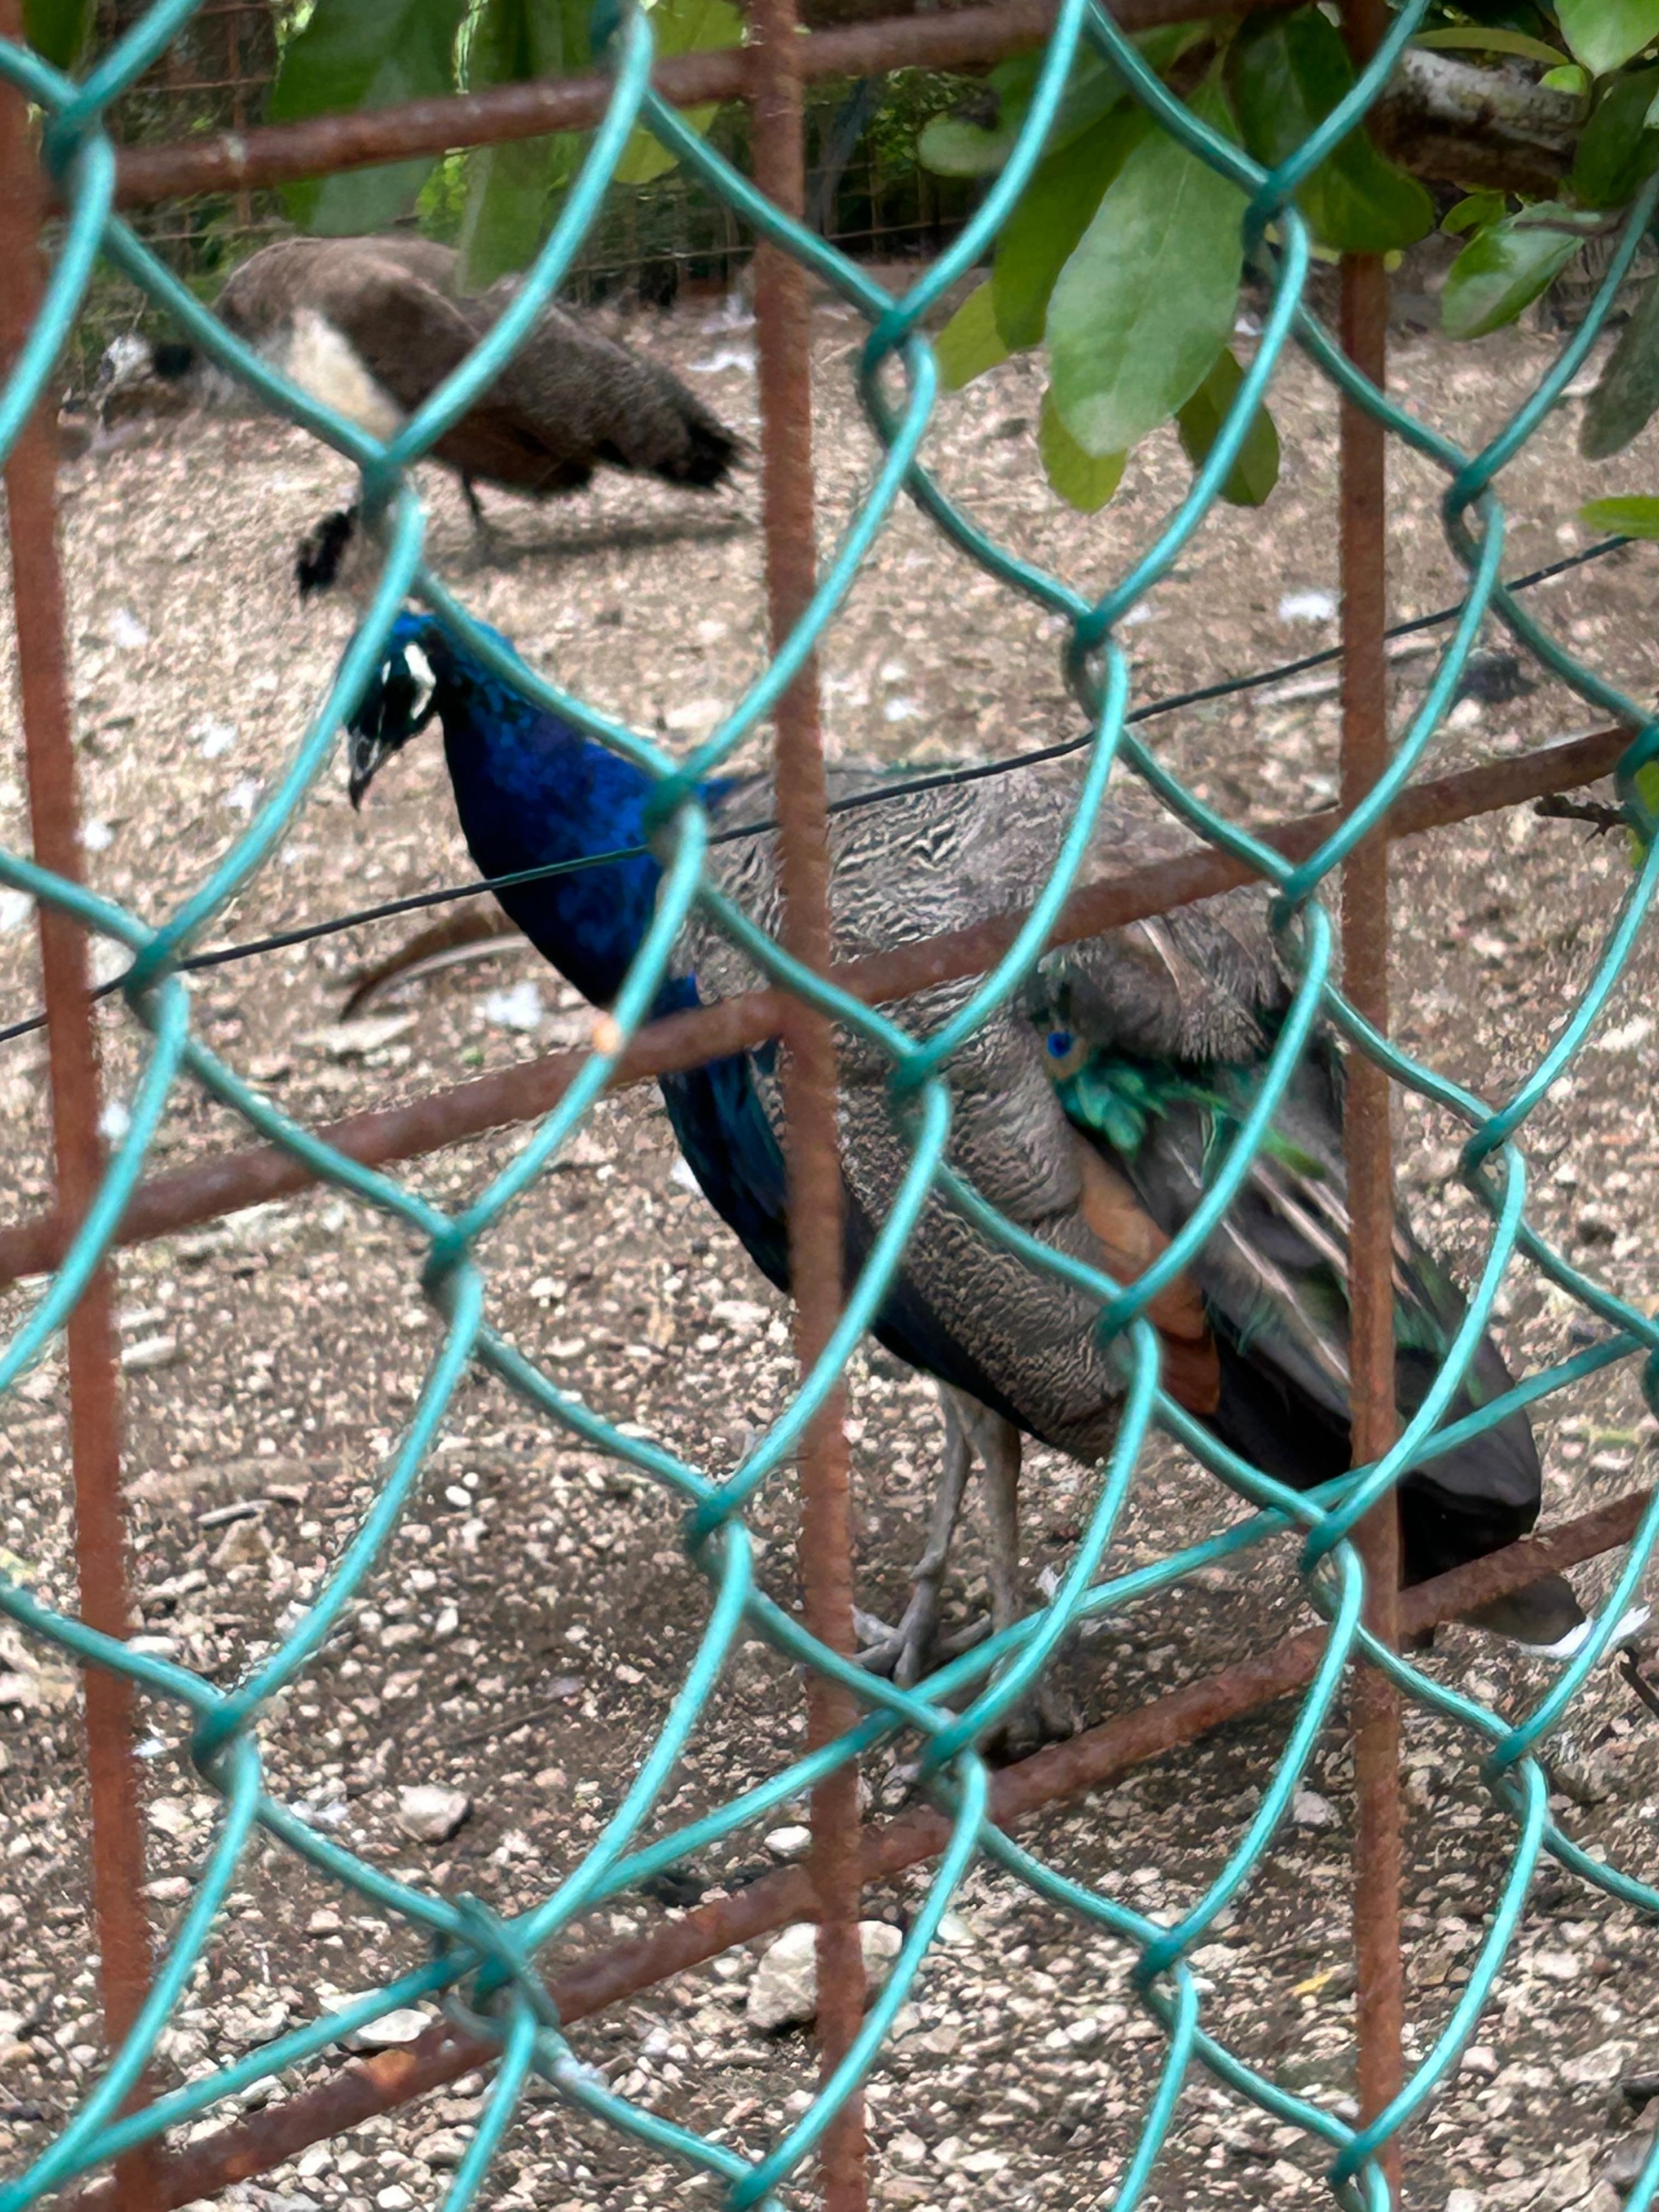
[{"label": "brown peahen with pale neck, bending down in the background", "polygon": [[[232,336],[312,398],[374,438],[394,438],[520,283],[502,276],[469,294],[458,279],[458,254],[431,239],[279,239],[241,263],[217,312]],[[241,387],[190,345],[150,347],[148,369],[210,403],[239,403]],[[677,376],[549,305],[431,458],[460,476],[482,531],[478,484],[544,500],[580,491],[595,469],[611,467],[710,491],[743,451]],[[356,531],[358,509],[345,507],[305,535],[294,566],[301,597],[338,577]]]}]

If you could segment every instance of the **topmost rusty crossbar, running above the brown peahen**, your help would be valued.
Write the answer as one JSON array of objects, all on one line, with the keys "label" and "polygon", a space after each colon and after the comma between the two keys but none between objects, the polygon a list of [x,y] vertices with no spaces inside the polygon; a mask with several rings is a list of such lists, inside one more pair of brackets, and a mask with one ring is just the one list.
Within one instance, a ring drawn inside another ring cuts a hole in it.
[{"label": "topmost rusty crossbar, running above the brown peahen", "polygon": [[[1110,13],[1126,31],[1164,22],[1234,13],[1243,0],[1115,0]],[[1267,0],[1287,7],[1292,0]],[[894,15],[803,38],[801,75],[867,77],[887,69],[975,69],[1040,44],[1053,29],[1057,0],[1000,0],[951,13]],[[752,100],[752,49],[666,55],[650,73],[653,86],[677,108],[712,100]],[[303,124],[261,124],[221,131],[197,142],[128,146],[117,155],[115,206],[148,208],[190,192],[230,192],[294,184],[323,170],[367,168],[411,155],[453,153],[460,146],[502,146],[546,131],[584,131],[611,104],[613,82],[593,73],[540,84],[502,84],[487,93],[445,100],[407,100],[356,115],[319,115]]]}]

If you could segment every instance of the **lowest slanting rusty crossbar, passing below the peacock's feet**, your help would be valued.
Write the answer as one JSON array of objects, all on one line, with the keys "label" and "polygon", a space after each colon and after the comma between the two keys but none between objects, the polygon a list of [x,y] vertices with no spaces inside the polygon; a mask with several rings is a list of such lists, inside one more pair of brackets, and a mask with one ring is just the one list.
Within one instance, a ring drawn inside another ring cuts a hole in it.
[{"label": "lowest slanting rusty crossbar, passing below the peacock's feet", "polygon": [[[1504,1551],[1458,1566],[1433,1582],[1420,1582],[1400,1593],[1400,1632],[1418,1635],[1471,1606],[1520,1590],[1540,1575],[1559,1573],[1595,1559],[1615,1544],[1628,1544],[1652,1491],[1630,1491],[1548,1535],[1524,1537]],[[1000,1827],[1022,1820],[1044,1805],[1097,1790],[1104,1783],[1181,1750],[1199,1736],[1239,1721],[1261,1705],[1272,1705],[1314,1679],[1325,1648],[1323,1628],[1285,1637],[1270,1650],[1203,1681],[1152,1699],[1135,1712],[1086,1728],[1066,1743],[1051,1743],[1018,1765],[1004,1767],[991,1783],[991,1818]],[[863,1832],[865,1882],[889,1880],[907,1867],[938,1858],[951,1834],[949,1820],[931,1805],[918,1805],[896,1820],[867,1823]],[[697,1905],[677,1920],[666,1920],[648,1936],[615,1944],[591,1958],[575,1960],[551,1984],[560,2020],[573,2026],[608,2004],[653,1989],[675,1973],[719,1958],[734,1944],[796,1920],[812,1920],[816,1896],[807,1867],[781,1867],[759,1882]],[[369,2059],[347,2059],[285,2104],[265,2106],[243,2119],[204,2135],[164,2166],[164,2205],[179,2208],[199,2197],[212,2197],[232,2181],[248,2181],[299,2157],[307,2143],[327,2141],[380,2112],[392,2112],[416,2097],[442,2088],[498,2057],[495,2044],[462,2035],[449,2022],[431,2026],[398,2051],[380,2051]],[[82,2190],[66,2212],[119,2212],[111,2181]]]}]

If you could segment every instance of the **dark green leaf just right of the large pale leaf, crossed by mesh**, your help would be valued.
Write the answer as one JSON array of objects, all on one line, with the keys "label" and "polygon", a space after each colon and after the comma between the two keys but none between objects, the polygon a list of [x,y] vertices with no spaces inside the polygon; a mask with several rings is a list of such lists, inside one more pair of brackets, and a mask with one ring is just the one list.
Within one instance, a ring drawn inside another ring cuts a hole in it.
[{"label": "dark green leaf just right of the large pale leaf, crossed by mesh", "polygon": [[[1321,9],[1245,31],[1232,44],[1232,97],[1250,153],[1276,168],[1354,86],[1343,33]],[[1356,126],[1296,192],[1316,237],[1349,254],[1416,246],[1433,230],[1433,201]]]}]

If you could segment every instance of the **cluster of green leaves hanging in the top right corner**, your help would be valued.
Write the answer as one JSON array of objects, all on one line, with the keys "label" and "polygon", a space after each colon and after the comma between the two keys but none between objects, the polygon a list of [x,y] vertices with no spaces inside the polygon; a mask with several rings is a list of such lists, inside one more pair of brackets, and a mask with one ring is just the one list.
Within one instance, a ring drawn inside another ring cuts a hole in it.
[{"label": "cluster of green leaves hanging in the top right corner", "polygon": [[[1334,15],[1314,4],[1274,9],[1146,33],[1137,46],[1214,128],[1276,168],[1354,84]],[[1418,44],[1520,71],[1582,106],[1575,159],[1555,199],[1471,188],[1440,217],[1447,234],[1464,239],[1444,285],[1444,327],[1480,338],[1513,323],[1659,170],[1659,0],[1559,0],[1555,9],[1471,0],[1431,9]],[[1002,62],[956,113],[922,128],[918,159],[947,177],[995,177],[1035,77],[1035,53]],[[1425,186],[1365,128],[1312,170],[1296,206],[1321,254],[1394,254],[1436,226]],[[940,332],[947,383],[982,376],[1013,352],[1042,354],[1040,451],[1053,489],[1075,504],[1099,504],[1104,482],[1086,482],[1075,456],[1115,465],[1166,422],[1199,467],[1241,383],[1228,352],[1248,274],[1241,212],[1243,197],[1183,153],[1099,55],[1082,53],[998,237],[989,283]],[[1608,361],[1586,411],[1586,456],[1628,445],[1657,405],[1659,296]],[[1225,498],[1263,500],[1276,469],[1279,440],[1263,409]],[[1075,498],[1079,487],[1086,498]]]}]

